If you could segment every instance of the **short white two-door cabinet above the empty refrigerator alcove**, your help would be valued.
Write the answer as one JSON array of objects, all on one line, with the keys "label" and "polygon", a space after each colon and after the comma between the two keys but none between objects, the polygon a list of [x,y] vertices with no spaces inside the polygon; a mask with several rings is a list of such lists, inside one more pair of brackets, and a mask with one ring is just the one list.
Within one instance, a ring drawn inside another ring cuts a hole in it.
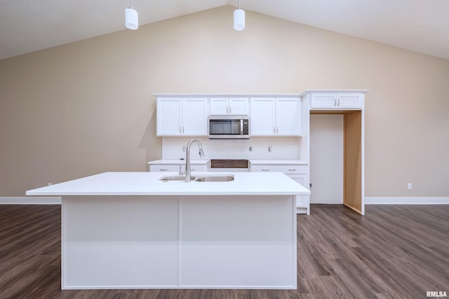
[{"label": "short white two-door cabinet above the empty refrigerator alcove", "polygon": [[361,93],[313,93],[311,109],[362,109]]}]

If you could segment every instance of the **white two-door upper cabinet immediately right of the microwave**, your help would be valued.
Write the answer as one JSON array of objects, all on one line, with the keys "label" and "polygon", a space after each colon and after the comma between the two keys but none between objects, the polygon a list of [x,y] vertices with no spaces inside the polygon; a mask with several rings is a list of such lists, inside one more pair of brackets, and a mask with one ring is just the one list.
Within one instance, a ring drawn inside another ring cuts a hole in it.
[{"label": "white two-door upper cabinet immediately right of the microwave", "polygon": [[301,136],[301,104],[296,97],[253,97],[251,136]]}]

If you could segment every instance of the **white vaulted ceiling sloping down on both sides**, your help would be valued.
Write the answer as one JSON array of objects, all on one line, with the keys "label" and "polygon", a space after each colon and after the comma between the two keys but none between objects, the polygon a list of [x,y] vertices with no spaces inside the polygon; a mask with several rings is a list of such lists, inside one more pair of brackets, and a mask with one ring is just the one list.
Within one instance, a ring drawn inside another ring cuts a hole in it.
[{"label": "white vaulted ceiling sloping down on both sides", "polygon": [[[238,0],[133,1],[140,26],[223,5]],[[128,6],[0,0],[0,59],[123,30]],[[449,0],[241,0],[241,8],[449,60]]]}]

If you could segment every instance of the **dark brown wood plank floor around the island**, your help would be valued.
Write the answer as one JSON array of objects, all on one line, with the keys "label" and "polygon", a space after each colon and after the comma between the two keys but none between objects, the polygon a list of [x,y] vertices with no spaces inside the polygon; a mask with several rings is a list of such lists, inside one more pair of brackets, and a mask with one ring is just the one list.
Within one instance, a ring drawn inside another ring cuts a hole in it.
[{"label": "dark brown wood plank floor around the island", "polygon": [[[0,205],[0,298],[426,298],[449,293],[449,206],[319,204],[297,217],[297,290],[60,290],[60,206]],[[217,270],[219,271],[219,270]]]}]

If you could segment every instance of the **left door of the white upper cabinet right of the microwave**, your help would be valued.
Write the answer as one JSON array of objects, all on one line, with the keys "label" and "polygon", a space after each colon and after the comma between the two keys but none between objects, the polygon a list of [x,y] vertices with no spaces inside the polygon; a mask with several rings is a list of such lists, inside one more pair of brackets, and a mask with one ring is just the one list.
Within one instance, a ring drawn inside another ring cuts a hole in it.
[{"label": "left door of the white upper cabinet right of the microwave", "polygon": [[250,134],[251,136],[272,136],[275,128],[274,97],[251,98]]}]

